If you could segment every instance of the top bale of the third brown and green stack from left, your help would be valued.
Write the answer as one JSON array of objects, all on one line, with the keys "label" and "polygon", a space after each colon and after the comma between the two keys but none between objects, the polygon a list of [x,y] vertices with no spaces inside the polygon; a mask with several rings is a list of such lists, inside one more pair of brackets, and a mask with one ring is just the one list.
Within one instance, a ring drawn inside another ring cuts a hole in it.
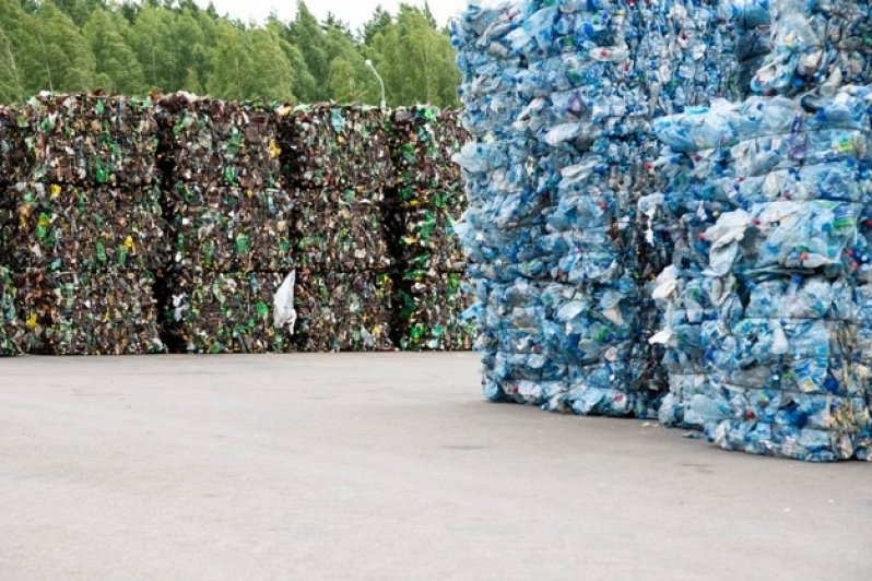
[{"label": "top bale of the third brown and green stack from left", "polygon": [[381,110],[322,103],[278,109],[284,175],[305,189],[381,189],[392,178]]}]

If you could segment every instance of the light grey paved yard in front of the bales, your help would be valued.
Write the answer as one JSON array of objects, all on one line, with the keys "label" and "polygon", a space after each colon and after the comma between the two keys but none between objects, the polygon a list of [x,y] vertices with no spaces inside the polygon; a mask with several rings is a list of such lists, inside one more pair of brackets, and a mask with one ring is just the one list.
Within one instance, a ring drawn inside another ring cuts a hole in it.
[{"label": "light grey paved yard in front of the bales", "polygon": [[471,355],[0,360],[0,579],[872,579],[872,464],[480,401]]}]

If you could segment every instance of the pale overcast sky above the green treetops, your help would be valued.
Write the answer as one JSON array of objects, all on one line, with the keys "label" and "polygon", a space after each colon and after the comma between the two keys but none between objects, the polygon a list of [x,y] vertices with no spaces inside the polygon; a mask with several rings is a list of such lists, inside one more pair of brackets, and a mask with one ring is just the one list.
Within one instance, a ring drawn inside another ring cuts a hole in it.
[{"label": "pale overcast sky above the green treetops", "polygon": [[[271,11],[279,14],[282,20],[291,20],[296,13],[296,0],[212,0],[221,14],[231,14],[237,19],[248,21],[263,21]],[[306,5],[319,19],[332,12],[340,19],[349,22],[352,29],[356,31],[364,22],[369,20],[373,11],[381,4],[391,13],[397,13],[401,0],[307,0]],[[424,0],[402,0],[406,4],[424,5]],[[209,5],[209,0],[198,0],[202,5]],[[448,19],[466,7],[467,0],[431,0],[429,8],[439,24],[446,24]]]}]

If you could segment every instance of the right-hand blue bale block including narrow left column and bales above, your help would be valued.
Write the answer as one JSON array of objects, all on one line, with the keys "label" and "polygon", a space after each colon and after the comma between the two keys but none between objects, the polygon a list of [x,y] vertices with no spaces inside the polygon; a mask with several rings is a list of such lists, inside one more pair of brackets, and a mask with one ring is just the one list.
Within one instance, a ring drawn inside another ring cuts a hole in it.
[{"label": "right-hand blue bale block including narrow left column and bales above", "polygon": [[846,82],[869,82],[869,7],[770,8],[765,96],[657,122],[684,237],[656,341],[694,378],[661,419],[724,449],[867,458],[872,93]]}]

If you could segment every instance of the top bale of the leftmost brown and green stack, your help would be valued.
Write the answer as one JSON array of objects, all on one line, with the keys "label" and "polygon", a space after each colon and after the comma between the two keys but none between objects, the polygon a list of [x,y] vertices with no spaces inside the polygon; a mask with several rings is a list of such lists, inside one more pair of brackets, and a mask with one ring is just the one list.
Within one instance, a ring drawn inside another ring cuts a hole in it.
[{"label": "top bale of the leftmost brown and green stack", "polygon": [[158,181],[157,123],[149,97],[40,93],[16,119],[26,159],[11,166],[13,182],[148,186]]}]

